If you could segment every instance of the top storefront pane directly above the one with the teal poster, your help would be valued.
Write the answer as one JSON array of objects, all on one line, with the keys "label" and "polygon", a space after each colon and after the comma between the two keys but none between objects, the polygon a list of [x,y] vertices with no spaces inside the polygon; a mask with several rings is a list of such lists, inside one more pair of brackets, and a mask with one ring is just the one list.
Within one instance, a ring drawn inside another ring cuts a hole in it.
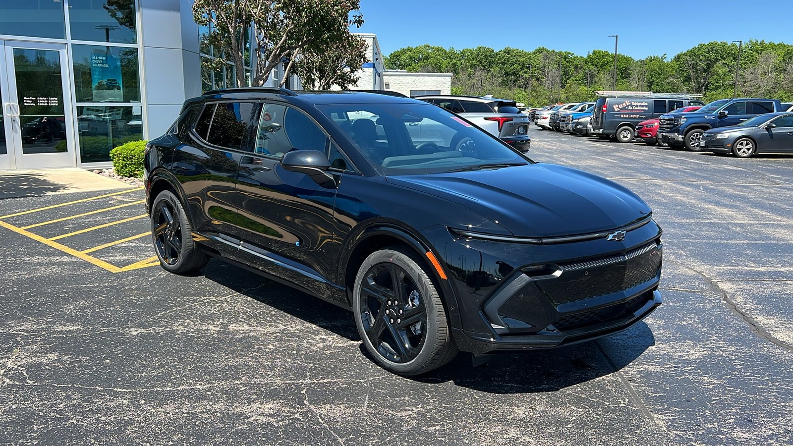
[{"label": "top storefront pane directly above the one with the teal poster", "polygon": [[134,44],[135,21],[135,0],[69,0],[74,40]]}]

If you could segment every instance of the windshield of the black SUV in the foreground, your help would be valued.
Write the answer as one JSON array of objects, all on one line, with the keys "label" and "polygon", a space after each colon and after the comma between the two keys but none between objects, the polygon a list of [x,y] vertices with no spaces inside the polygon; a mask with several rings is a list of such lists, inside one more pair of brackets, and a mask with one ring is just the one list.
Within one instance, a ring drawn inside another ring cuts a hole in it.
[{"label": "windshield of the black SUV in the foreground", "polygon": [[411,103],[317,106],[380,175],[434,174],[531,163],[440,107]]}]

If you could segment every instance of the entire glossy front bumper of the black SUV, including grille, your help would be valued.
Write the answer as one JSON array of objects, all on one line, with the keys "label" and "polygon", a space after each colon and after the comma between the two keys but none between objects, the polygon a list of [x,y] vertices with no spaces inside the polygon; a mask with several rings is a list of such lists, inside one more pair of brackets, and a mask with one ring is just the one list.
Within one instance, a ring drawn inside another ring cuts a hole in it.
[{"label": "entire glossy front bumper of the black SUV, including grille", "polygon": [[[454,339],[465,352],[592,340],[629,328],[662,302],[661,229],[654,221],[618,243],[603,237],[528,245],[433,232],[425,235],[444,247],[462,323]],[[544,267],[531,270],[538,263]]]}]

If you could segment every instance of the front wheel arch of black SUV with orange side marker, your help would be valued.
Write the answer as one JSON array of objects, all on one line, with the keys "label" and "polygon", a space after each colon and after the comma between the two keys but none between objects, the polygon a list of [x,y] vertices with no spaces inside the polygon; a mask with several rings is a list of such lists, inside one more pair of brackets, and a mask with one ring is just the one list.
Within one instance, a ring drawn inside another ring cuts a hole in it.
[{"label": "front wheel arch of black SUV with orange side marker", "polygon": [[[345,289],[350,306],[352,306],[352,287],[355,283],[355,275],[358,274],[358,268],[366,260],[366,257],[382,248],[399,245],[412,249],[422,256],[424,262],[427,263],[431,279],[440,291],[450,325],[454,328],[462,327],[457,297],[454,294],[454,287],[450,283],[450,273],[446,271],[443,263],[438,261],[441,259],[439,253],[435,252],[432,245],[427,240],[423,240],[423,237],[419,236],[417,232],[393,223],[380,222],[359,230],[358,233],[349,237],[349,240],[340,256],[342,261],[339,262],[337,277]],[[435,256],[437,265],[427,258],[427,253]],[[437,268],[441,269],[445,277],[441,277]]]}]

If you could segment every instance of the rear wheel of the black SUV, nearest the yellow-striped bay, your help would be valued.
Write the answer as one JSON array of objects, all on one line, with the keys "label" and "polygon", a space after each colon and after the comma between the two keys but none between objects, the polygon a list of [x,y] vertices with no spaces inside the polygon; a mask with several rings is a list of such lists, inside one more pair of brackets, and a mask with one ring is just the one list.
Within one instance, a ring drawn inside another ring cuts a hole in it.
[{"label": "rear wheel of the black SUV, nearest the yellow-striped bay", "polygon": [[157,195],[150,217],[151,238],[165,270],[184,274],[205,267],[209,256],[196,248],[182,203],[170,190]]}]

